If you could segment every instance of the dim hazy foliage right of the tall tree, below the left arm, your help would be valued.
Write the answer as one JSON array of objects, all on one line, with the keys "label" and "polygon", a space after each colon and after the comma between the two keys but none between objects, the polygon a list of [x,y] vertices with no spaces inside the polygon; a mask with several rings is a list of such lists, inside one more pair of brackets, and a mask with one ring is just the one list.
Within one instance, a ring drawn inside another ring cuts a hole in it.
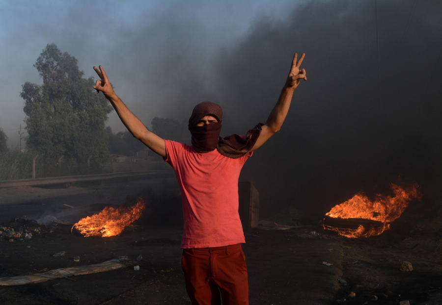
[{"label": "dim hazy foliage right of the tall tree, below the left arm", "polygon": [[111,127],[106,127],[109,138],[109,152],[125,156],[135,156],[137,152],[146,150],[147,147],[129,131],[112,133]]}]

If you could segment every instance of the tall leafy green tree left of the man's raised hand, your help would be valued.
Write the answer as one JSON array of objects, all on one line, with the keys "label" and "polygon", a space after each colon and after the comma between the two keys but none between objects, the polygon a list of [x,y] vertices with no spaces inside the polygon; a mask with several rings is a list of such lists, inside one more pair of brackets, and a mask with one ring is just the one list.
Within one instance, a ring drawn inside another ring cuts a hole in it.
[{"label": "tall leafy green tree left of the man's raised hand", "polygon": [[[25,100],[27,147],[46,160],[84,164],[89,156],[98,164],[109,155],[105,122],[112,107],[92,89],[93,77],[83,78],[77,59],[47,45],[34,67],[43,84],[26,82],[20,96]],[[92,161],[91,160],[91,161]]]}]

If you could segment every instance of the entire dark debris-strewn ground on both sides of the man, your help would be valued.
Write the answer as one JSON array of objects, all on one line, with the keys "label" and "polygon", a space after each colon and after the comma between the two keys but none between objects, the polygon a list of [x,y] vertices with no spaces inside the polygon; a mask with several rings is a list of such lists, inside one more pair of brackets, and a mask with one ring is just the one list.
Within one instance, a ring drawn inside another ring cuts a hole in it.
[{"label": "entire dark debris-strewn ground on both sides of the man", "polygon": [[[0,188],[0,225],[16,227],[25,215],[78,221],[82,213],[100,205],[130,204],[138,196],[149,197],[147,215],[119,236],[86,238],[72,234],[70,225],[48,222],[31,239],[0,240],[0,278],[96,264],[119,256],[128,256],[139,265],[138,271],[129,266],[37,284],[0,286],[0,304],[190,304],[180,266],[179,196],[162,191],[169,189],[168,183],[150,181],[147,189],[145,181],[63,189]],[[93,208],[66,216],[72,209],[67,205]],[[410,209],[391,230],[364,239],[324,231],[318,221],[305,221],[298,229],[280,229],[264,221],[259,228],[246,229],[250,304],[362,305],[407,300],[411,305],[442,304],[441,219],[440,209],[423,216]],[[61,251],[63,256],[54,256]],[[75,256],[80,260],[74,261]],[[414,270],[401,271],[403,261]],[[339,278],[347,285],[340,284]]]}]

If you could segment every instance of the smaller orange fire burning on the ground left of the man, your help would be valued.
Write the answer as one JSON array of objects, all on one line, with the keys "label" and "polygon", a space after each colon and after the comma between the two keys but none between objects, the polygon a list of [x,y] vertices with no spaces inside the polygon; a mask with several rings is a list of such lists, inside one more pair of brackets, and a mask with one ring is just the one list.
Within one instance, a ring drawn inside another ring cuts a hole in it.
[{"label": "smaller orange fire burning on the ground left of the man", "polygon": [[123,229],[141,217],[146,203],[139,199],[134,206],[113,208],[105,207],[100,213],[87,216],[76,223],[74,229],[83,236],[109,237],[120,234]]}]

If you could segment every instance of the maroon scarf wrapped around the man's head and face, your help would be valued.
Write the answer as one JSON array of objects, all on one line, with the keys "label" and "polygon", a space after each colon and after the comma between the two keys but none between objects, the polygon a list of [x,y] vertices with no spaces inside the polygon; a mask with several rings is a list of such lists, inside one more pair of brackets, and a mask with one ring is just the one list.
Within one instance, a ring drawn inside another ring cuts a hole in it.
[{"label": "maroon scarf wrapped around the man's head and face", "polygon": [[[210,115],[218,120],[204,126],[196,126],[199,120]],[[222,109],[213,102],[201,102],[192,111],[189,119],[189,130],[192,134],[192,146],[197,152],[211,152],[217,148],[220,140]]]}]

